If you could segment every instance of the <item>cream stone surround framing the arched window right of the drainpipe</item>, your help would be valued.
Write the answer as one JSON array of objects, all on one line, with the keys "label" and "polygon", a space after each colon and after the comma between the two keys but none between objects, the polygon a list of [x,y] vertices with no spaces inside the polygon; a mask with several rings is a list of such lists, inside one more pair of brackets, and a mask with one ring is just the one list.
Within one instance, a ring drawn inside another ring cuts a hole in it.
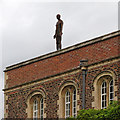
[{"label": "cream stone surround framing the arched window right of the drainpipe", "polygon": [[99,74],[97,74],[93,80],[94,81],[93,82],[94,91],[92,92],[92,96],[94,97],[94,101],[92,102],[93,108],[101,109],[101,92],[100,92],[101,84],[103,81],[106,81],[107,84],[109,84],[111,79],[113,80],[114,84],[114,100],[117,100],[117,96],[115,96],[115,92],[117,91],[117,86],[115,86],[115,80],[117,79],[115,72],[112,70],[102,71]]}]

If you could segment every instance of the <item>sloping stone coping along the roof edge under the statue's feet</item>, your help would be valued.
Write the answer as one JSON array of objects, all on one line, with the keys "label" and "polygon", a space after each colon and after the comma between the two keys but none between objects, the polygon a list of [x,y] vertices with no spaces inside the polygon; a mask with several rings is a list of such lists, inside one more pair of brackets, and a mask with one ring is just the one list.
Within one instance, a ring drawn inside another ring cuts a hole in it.
[{"label": "sloping stone coping along the roof edge under the statue's feet", "polygon": [[61,49],[61,50],[58,50],[58,51],[55,51],[55,52],[51,52],[51,53],[48,53],[48,54],[45,54],[45,55],[42,55],[42,56],[39,56],[39,57],[35,57],[35,58],[32,58],[32,59],[14,64],[14,65],[8,66],[8,67],[6,67],[4,72],[10,71],[12,69],[16,69],[16,68],[19,68],[19,67],[22,67],[22,66],[25,66],[25,65],[43,60],[43,59],[47,59],[47,58],[50,58],[50,57],[53,57],[53,56],[57,56],[59,54],[63,54],[63,53],[66,53],[66,52],[69,52],[69,51],[72,51],[72,50],[75,50],[75,49],[78,49],[78,48],[81,48],[81,47],[85,47],[85,46],[88,46],[90,44],[94,44],[96,42],[101,42],[101,41],[107,40],[109,38],[118,36],[118,35],[120,35],[120,30],[109,33],[109,34],[106,34],[106,35],[103,35],[103,36],[100,36],[100,37],[96,37],[96,38],[91,39],[91,40],[87,40],[87,41],[82,42],[82,43],[72,45],[70,47],[67,47],[67,48],[64,48],[64,49]]}]

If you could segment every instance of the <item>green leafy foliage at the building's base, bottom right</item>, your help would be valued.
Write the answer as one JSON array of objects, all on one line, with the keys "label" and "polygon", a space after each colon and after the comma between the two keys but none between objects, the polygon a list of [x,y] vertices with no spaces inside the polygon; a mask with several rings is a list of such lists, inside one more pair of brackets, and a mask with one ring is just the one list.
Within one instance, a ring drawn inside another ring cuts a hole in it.
[{"label": "green leafy foliage at the building's base, bottom right", "polygon": [[96,110],[80,110],[76,118],[68,118],[68,120],[119,120],[120,119],[120,103],[113,101],[106,109]]}]

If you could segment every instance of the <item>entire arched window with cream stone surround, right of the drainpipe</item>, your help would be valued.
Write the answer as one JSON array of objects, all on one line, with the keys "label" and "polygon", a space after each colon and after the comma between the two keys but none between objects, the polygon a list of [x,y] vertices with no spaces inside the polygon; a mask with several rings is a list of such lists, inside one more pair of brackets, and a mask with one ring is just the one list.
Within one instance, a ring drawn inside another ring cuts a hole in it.
[{"label": "entire arched window with cream stone surround, right of the drainpipe", "polygon": [[92,102],[92,107],[96,109],[104,109],[108,106],[110,101],[117,100],[115,96],[115,91],[117,86],[115,86],[116,76],[111,71],[105,71],[99,74],[94,80],[94,91],[92,96],[94,97],[94,102]]}]

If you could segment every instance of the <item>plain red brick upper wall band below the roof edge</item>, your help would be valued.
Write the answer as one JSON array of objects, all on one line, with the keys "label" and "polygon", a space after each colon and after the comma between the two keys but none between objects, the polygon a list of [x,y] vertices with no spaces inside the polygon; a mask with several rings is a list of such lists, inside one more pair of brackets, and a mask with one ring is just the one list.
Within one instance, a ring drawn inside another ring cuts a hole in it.
[{"label": "plain red brick upper wall band below the roof edge", "polygon": [[7,71],[9,87],[55,75],[79,66],[81,59],[88,59],[88,64],[99,62],[119,54],[120,36],[75,49],[64,54]]}]

